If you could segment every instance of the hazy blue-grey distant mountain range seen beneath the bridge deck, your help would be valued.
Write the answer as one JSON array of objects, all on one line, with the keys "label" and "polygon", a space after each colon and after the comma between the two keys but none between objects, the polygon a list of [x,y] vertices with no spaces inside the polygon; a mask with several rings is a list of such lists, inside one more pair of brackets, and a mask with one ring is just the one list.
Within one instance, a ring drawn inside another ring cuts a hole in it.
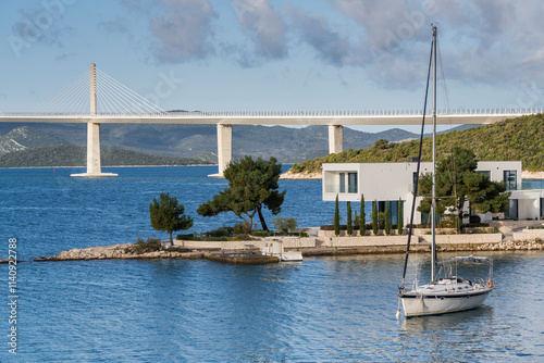
[{"label": "hazy blue-grey distant mountain range seen beneath the bridge deck", "polygon": [[[2,124],[5,133],[26,127],[44,133],[35,143],[22,143],[25,148],[69,143],[85,147],[87,128],[85,124]],[[11,128],[10,128],[11,126]],[[5,135],[4,135],[5,136]],[[344,128],[344,149],[371,147],[379,139],[399,141],[413,139],[416,134],[394,128],[383,133],[364,133]],[[7,139],[12,139],[8,137]],[[18,139],[16,142],[21,143]],[[153,124],[101,124],[100,141],[103,148],[132,150],[156,155],[177,158],[201,158],[217,162],[215,125],[153,125]],[[0,142],[1,146],[1,142]],[[16,145],[5,151],[21,150]],[[24,149],[24,148],[23,148]],[[280,162],[294,163],[324,157],[329,152],[329,129],[326,126],[293,128],[284,126],[233,126],[233,157],[275,157]],[[0,150],[0,153],[2,151]]]}]

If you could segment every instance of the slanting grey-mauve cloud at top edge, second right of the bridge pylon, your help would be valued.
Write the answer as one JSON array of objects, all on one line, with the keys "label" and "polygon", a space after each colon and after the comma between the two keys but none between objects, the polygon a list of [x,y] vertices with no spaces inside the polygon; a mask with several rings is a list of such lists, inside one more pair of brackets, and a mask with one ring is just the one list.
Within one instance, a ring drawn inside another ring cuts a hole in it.
[{"label": "slanting grey-mauve cloud at top edge, second right of the bridge pylon", "polygon": [[250,34],[257,54],[264,59],[287,55],[287,26],[268,0],[233,0],[243,29]]}]

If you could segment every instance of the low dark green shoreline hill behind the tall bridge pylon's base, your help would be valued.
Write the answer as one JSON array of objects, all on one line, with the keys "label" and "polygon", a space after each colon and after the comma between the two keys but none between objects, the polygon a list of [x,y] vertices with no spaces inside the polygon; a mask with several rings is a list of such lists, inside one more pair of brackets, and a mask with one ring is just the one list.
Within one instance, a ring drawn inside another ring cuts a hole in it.
[{"label": "low dark green shoreline hill behind the tall bridge pylon's base", "polygon": [[[102,166],[196,165],[207,162],[191,158],[149,155],[129,150],[101,149]],[[71,145],[32,148],[0,155],[0,167],[85,166],[87,150]]]}]

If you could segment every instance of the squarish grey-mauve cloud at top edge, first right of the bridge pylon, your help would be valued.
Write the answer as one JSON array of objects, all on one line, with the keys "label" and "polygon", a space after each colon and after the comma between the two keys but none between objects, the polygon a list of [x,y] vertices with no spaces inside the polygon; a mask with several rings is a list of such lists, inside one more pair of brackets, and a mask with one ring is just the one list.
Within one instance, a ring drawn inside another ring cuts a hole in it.
[{"label": "squarish grey-mauve cloud at top edge, first right of the bridge pylon", "polygon": [[207,0],[164,0],[163,14],[149,20],[157,37],[154,55],[161,63],[203,59],[213,53],[212,20],[218,15]]}]

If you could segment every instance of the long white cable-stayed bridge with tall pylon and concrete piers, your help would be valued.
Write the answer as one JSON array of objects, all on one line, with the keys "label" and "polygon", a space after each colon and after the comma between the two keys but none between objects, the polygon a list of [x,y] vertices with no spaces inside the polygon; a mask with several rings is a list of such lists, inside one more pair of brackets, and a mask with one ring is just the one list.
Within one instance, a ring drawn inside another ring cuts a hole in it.
[{"label": "long white cable-stayed bridge with tall pylon and concrete piers", "polygon": [[[542,113],[543,109],[437,110],[443,125],[491,124],[505,118]],[[431,110],[426,111],[429,122]],[[100,164],[100,124],[215,124],[219,174],[232,159],[232,125],[326,125],[329,152],[343,151],[343,126],[418,125],[421,110],[408,111],[242,111],[168,112],[90,65],[64,89],[33,113],[0,113],[0,122],[87,124],[87,173],[106,176]]]}]

